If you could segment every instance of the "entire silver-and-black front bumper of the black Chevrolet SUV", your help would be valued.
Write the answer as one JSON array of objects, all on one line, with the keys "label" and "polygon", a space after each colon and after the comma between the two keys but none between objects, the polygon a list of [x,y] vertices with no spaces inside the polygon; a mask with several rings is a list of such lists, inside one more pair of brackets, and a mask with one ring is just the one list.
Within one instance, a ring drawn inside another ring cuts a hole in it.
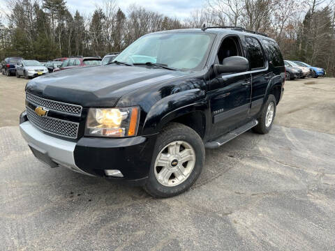
[{"label": "entire silver-and-black front bumper of the black Chevrolet SUV", "polygon": [[[137,184],[147,179],[156,144],[156,135],[122,139],[82,137],[73,142],[48,135],[22,118],[20,130],[36,158],[47,165],[52,161],[55,166],[68,167],[81,174]],[[107,176],[105,170],[109,169],[119,170],[124,177]]]}]

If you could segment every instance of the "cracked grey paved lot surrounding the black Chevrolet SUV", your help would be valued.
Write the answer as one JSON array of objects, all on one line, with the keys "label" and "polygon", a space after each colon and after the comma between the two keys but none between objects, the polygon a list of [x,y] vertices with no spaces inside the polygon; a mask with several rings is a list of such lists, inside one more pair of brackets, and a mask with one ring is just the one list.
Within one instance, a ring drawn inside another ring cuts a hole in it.
[{"label": "cracked grey paved lot surrounding the black Chevrolet SUV", "polygon": [[271,132],[207,150],[170,199],[38,162],[25,82],[0,75],[0,250],[335,249],[335,79],[286,82]]}]

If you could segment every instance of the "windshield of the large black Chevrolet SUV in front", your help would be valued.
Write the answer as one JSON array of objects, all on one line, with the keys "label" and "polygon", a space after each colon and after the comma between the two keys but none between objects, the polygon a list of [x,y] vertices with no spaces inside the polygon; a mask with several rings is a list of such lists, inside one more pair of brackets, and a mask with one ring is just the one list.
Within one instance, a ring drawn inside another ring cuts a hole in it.
[{"label": "windshield of the large black Chevrolet SUV in front", "polygon": [[157,33],[139,38],[114,61],[162,63],[171,68],[204,67],[214,35],[210,33]]}]

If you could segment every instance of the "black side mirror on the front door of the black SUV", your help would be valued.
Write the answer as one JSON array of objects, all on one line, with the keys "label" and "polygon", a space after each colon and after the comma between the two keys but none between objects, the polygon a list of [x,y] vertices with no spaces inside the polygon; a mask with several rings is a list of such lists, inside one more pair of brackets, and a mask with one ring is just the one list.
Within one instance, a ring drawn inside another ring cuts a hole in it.
[{"label": "black side mirror on the front door of the black SUV", "polygon": [[249,70],[249,61],[243,56],[229,56],[223,59],[222,64],[214,65],[217,75],[223,73],[242,73]]}]

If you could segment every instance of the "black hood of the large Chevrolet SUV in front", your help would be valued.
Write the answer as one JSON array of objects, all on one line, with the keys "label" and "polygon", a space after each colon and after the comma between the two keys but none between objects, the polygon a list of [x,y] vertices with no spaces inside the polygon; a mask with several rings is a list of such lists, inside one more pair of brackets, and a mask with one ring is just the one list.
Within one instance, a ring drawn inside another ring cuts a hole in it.
[{"label": "black hood of the large Chevrolet SUV in front", "polygon": [[26,91],[83,107],[114,107],[126,93],[187,74],[140,66],[91,66],[37,77],[27,83]]}]

